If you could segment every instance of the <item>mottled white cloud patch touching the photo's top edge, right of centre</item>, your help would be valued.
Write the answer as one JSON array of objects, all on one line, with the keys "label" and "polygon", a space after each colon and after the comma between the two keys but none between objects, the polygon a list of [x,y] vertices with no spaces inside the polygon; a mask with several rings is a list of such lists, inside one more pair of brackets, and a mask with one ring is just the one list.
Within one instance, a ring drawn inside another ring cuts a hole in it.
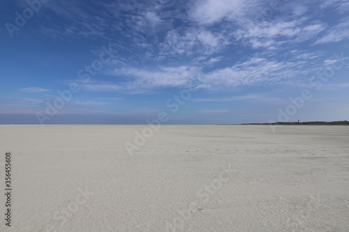
[{"label": "mottled white cloud patch touching the photo's top edge, right of centre", "polygon": [[[216,23],[221,29],[230,31],[225,33],[230,44],[234,43],[235,38],[254,49],[277,49],[285,43],[294,44],[315,38],[326,29],[326,24],[304,17],[308,9],[313,7],[311,3],[301,1],[275,4],[264,1],[203,0],[195,3],[188,14],[193,21],[206,28]],[[276,13],[281,15],[276,16]],[[264,22],[256,23],[254,19],[258,17],[265,19]]]}]

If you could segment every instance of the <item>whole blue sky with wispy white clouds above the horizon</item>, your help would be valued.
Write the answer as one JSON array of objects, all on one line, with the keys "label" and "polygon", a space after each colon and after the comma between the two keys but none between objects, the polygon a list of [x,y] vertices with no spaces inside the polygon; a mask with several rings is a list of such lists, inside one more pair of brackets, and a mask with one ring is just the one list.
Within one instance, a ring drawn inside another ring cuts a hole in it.
[{"label": "whole blue sky with wispy white clouds above the horizon", "polygon": [[1,124],[349,118],[347,1],[15,0],[0,19]]}]

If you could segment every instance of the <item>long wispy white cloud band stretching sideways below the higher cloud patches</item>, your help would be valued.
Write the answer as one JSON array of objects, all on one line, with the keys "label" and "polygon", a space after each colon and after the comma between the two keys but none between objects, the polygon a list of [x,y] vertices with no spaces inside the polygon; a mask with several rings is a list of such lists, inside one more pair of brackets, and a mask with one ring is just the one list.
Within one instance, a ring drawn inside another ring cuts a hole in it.
[{"label": "long wispy white cloud band stretching sideways below the higher cloud patches", "polygon": [[[149,69],[124,67],[115,68],[107,75],[126,78],[125,81],[103,82],[91,80],[81,83],[86,91],[149,93],[161,88],[183,88],[193,80],[200,79],[199,88],[209,90],[231,91],[239,86],[256,85],[298,85],[305,82],[322,63],[316,63],[322,54],[292,50],[282,54],[282,59],[269,57],[269,54],[255,54],[226,68],[216,68],[203,72],[202,65],[161,66]],[[205,60],[205,58],[203,58]],[[220,61],[221,56],[208,61],[205,65]]]}]

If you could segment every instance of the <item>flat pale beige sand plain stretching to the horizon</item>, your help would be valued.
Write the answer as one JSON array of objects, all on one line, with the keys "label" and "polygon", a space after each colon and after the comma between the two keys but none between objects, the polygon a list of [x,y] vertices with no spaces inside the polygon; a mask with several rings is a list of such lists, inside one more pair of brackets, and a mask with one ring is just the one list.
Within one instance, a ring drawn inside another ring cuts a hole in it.
[{"label": "flat pale beige sand plain stretching to the horizon", "polygon": [[0,231],[349,231],[348,126],[144,127],[0,125]]}]

